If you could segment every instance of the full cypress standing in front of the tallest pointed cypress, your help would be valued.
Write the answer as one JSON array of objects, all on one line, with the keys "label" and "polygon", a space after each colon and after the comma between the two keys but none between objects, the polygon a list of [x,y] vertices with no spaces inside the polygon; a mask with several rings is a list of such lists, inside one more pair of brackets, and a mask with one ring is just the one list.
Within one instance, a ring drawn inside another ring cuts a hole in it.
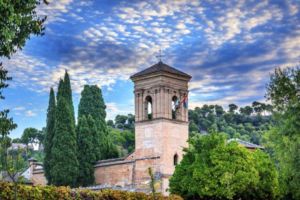
[{"label": "full cypress standing in front of the tallest pointed cypress", "polygon": [[78,161],[74,121],[70,107],[69,101],[61,94],[55,108],[55,132],[50,160],[51,184],[55,186],[76,186]]}]

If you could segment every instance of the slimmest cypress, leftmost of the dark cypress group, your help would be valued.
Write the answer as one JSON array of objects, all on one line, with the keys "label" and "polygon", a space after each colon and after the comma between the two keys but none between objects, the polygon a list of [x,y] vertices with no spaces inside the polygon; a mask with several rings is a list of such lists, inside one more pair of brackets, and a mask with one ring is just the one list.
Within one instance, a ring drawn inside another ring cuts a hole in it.
[{"label": "slimmest cypress, leftmost of the dark cypress group", "polygon": [[50,175],[50,160],[51,156],[51,148],[52,148],[52,139],[54,136],[54,122],[55,122],[55,95],[53,88],[50,87],[49,94],[49,105],[47,109],[47,119],[46,119],[46,131],[44,138],[44,161],[43,161],[43,170],[45,171],[44,175],[48,183],[51,183],[51,175]]}]

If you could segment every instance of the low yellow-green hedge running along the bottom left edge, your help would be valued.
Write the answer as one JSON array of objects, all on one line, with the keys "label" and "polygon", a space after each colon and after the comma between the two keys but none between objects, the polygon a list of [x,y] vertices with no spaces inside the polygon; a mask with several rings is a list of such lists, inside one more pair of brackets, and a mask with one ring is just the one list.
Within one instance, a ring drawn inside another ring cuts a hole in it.
[{"label": "low yellow-green hedge running along the bottom left edge", "polygon": [[[57,199],[57,200],[123,200],[123,199],[140,199],[152,200],[152,195],[147,195],[144,192],[131,192],[123,190],[102,189],[101,191],[90,191],[88,189],[70,190],[69,187],[55,187],[53,185],[37,185],[27,186],[18,185],[17,192],[18,200],[27,199]],[[13,199],[14,191],[13,184],[0,181],[0,199]],[[180,196],[170,195],[163,196],[162,194],[155,195],[157,200],[182,200]]]}]

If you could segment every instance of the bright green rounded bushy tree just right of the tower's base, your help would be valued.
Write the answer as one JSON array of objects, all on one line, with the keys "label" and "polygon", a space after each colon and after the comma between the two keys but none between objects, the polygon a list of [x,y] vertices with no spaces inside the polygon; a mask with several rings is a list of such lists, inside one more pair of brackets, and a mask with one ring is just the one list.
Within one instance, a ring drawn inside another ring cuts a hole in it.
[{"label": "bright green rounded bushy tree just right of the tower's base", "polygon": [[[272,199],[277,195],[276,168],[263,152],[253,155],[236,141],[225,143],[225,137],[213,131],[188,142],[192,147],[183,149],[183,159],[169,179],[171,193],[184,199]],[[259,190],[259,186],[264,188]]]}]

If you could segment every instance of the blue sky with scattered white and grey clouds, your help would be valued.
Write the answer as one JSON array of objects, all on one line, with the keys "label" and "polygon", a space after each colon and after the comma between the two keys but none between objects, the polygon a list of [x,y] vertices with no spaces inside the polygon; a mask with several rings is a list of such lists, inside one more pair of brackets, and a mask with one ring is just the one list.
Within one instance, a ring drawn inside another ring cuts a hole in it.
[{"label": "blue sky with scattered white and grey clouds", "polygon": [[49,0],[45,35],[0,58],[9,86],[0,110],[18,127],[46,125],[50,86],[70,74],[77,113],[84,84],[102,89],[106,119],[134,113],[129,76],[162,61],[192,76],[188,108],[264,102],[268,72],[300,60],[299,0]]}]

